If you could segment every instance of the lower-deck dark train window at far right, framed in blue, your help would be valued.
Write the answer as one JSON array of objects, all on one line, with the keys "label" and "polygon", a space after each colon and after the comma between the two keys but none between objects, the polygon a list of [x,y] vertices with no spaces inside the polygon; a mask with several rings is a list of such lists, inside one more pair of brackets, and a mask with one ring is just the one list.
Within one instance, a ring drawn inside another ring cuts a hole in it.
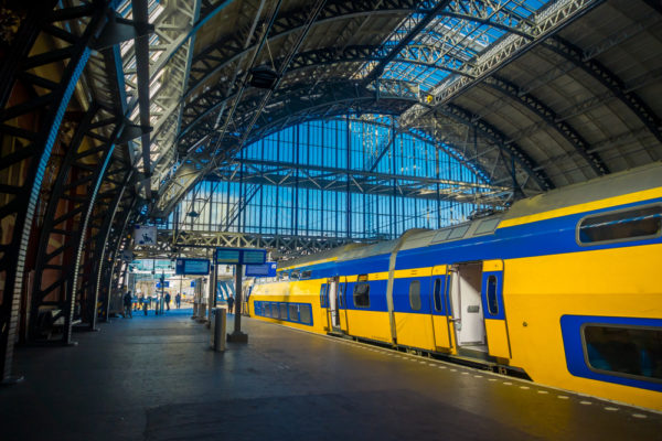
[{"label": "lower-deck dark train window at far right, framed in blue", "polygon": [[605,374],[662,381],[662,329],[583,326],[588,366]]}]

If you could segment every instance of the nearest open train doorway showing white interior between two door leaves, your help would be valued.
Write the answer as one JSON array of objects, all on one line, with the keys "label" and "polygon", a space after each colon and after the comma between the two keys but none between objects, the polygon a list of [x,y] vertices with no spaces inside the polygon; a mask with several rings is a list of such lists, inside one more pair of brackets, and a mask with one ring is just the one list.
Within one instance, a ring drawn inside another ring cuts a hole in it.
[{"label": "nearest open train doorway showing white interior between two door leaves", "polygon": [[456,263],[450,268],[451,322],[458,352],[466,355],[487,353],[485,323],[482,313],[482,262]]}]

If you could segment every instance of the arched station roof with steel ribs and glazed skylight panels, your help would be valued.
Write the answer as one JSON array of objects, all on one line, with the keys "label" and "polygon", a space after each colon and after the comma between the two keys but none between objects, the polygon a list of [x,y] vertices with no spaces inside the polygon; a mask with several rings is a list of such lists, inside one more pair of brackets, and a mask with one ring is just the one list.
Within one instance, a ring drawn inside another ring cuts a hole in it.
[{"label": "arched station roof with steel ribs and glazed skylight panels", "polygon": [[[139,101],[149,85],[131,117],[149,111],[153,129],[131,154],[149,162],[156,213],[242,146],[348,112],[395,116],[525,195],[662,157],[653,0],[126,0],[118,13],[156,29],[120,51],[122,93]],[[277,73],[273,88],[250,86],[256,67]]]}]

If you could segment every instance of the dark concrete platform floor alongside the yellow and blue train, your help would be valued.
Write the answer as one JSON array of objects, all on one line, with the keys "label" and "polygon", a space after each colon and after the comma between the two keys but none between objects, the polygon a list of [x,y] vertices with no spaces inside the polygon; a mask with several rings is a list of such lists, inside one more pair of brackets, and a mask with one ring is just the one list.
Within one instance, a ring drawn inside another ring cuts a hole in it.
[{"label": "dark concrete platform floor alongside the yellow and blue train", "polygon": [[662,440],[659,413],[250,319],[213,353],[189,316],[19,348],[0,440]]}]

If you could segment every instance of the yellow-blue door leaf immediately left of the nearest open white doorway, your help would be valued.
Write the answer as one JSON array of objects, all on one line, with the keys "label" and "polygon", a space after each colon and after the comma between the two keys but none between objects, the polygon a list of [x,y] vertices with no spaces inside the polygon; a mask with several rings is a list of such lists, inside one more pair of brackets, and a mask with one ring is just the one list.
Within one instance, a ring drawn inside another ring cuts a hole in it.
[{"label": "yellow-blue door leaf immediately left of the nearest open white doorway", "polygon": [[450,352],[452,348],[452,336],[450,332],[449,316],[451,313],[448,308],[448,282],[450,277],[447,275],[446,265],[433,268],[430,311],[433,319],[433,333],[435,337],[436,351]]}]

